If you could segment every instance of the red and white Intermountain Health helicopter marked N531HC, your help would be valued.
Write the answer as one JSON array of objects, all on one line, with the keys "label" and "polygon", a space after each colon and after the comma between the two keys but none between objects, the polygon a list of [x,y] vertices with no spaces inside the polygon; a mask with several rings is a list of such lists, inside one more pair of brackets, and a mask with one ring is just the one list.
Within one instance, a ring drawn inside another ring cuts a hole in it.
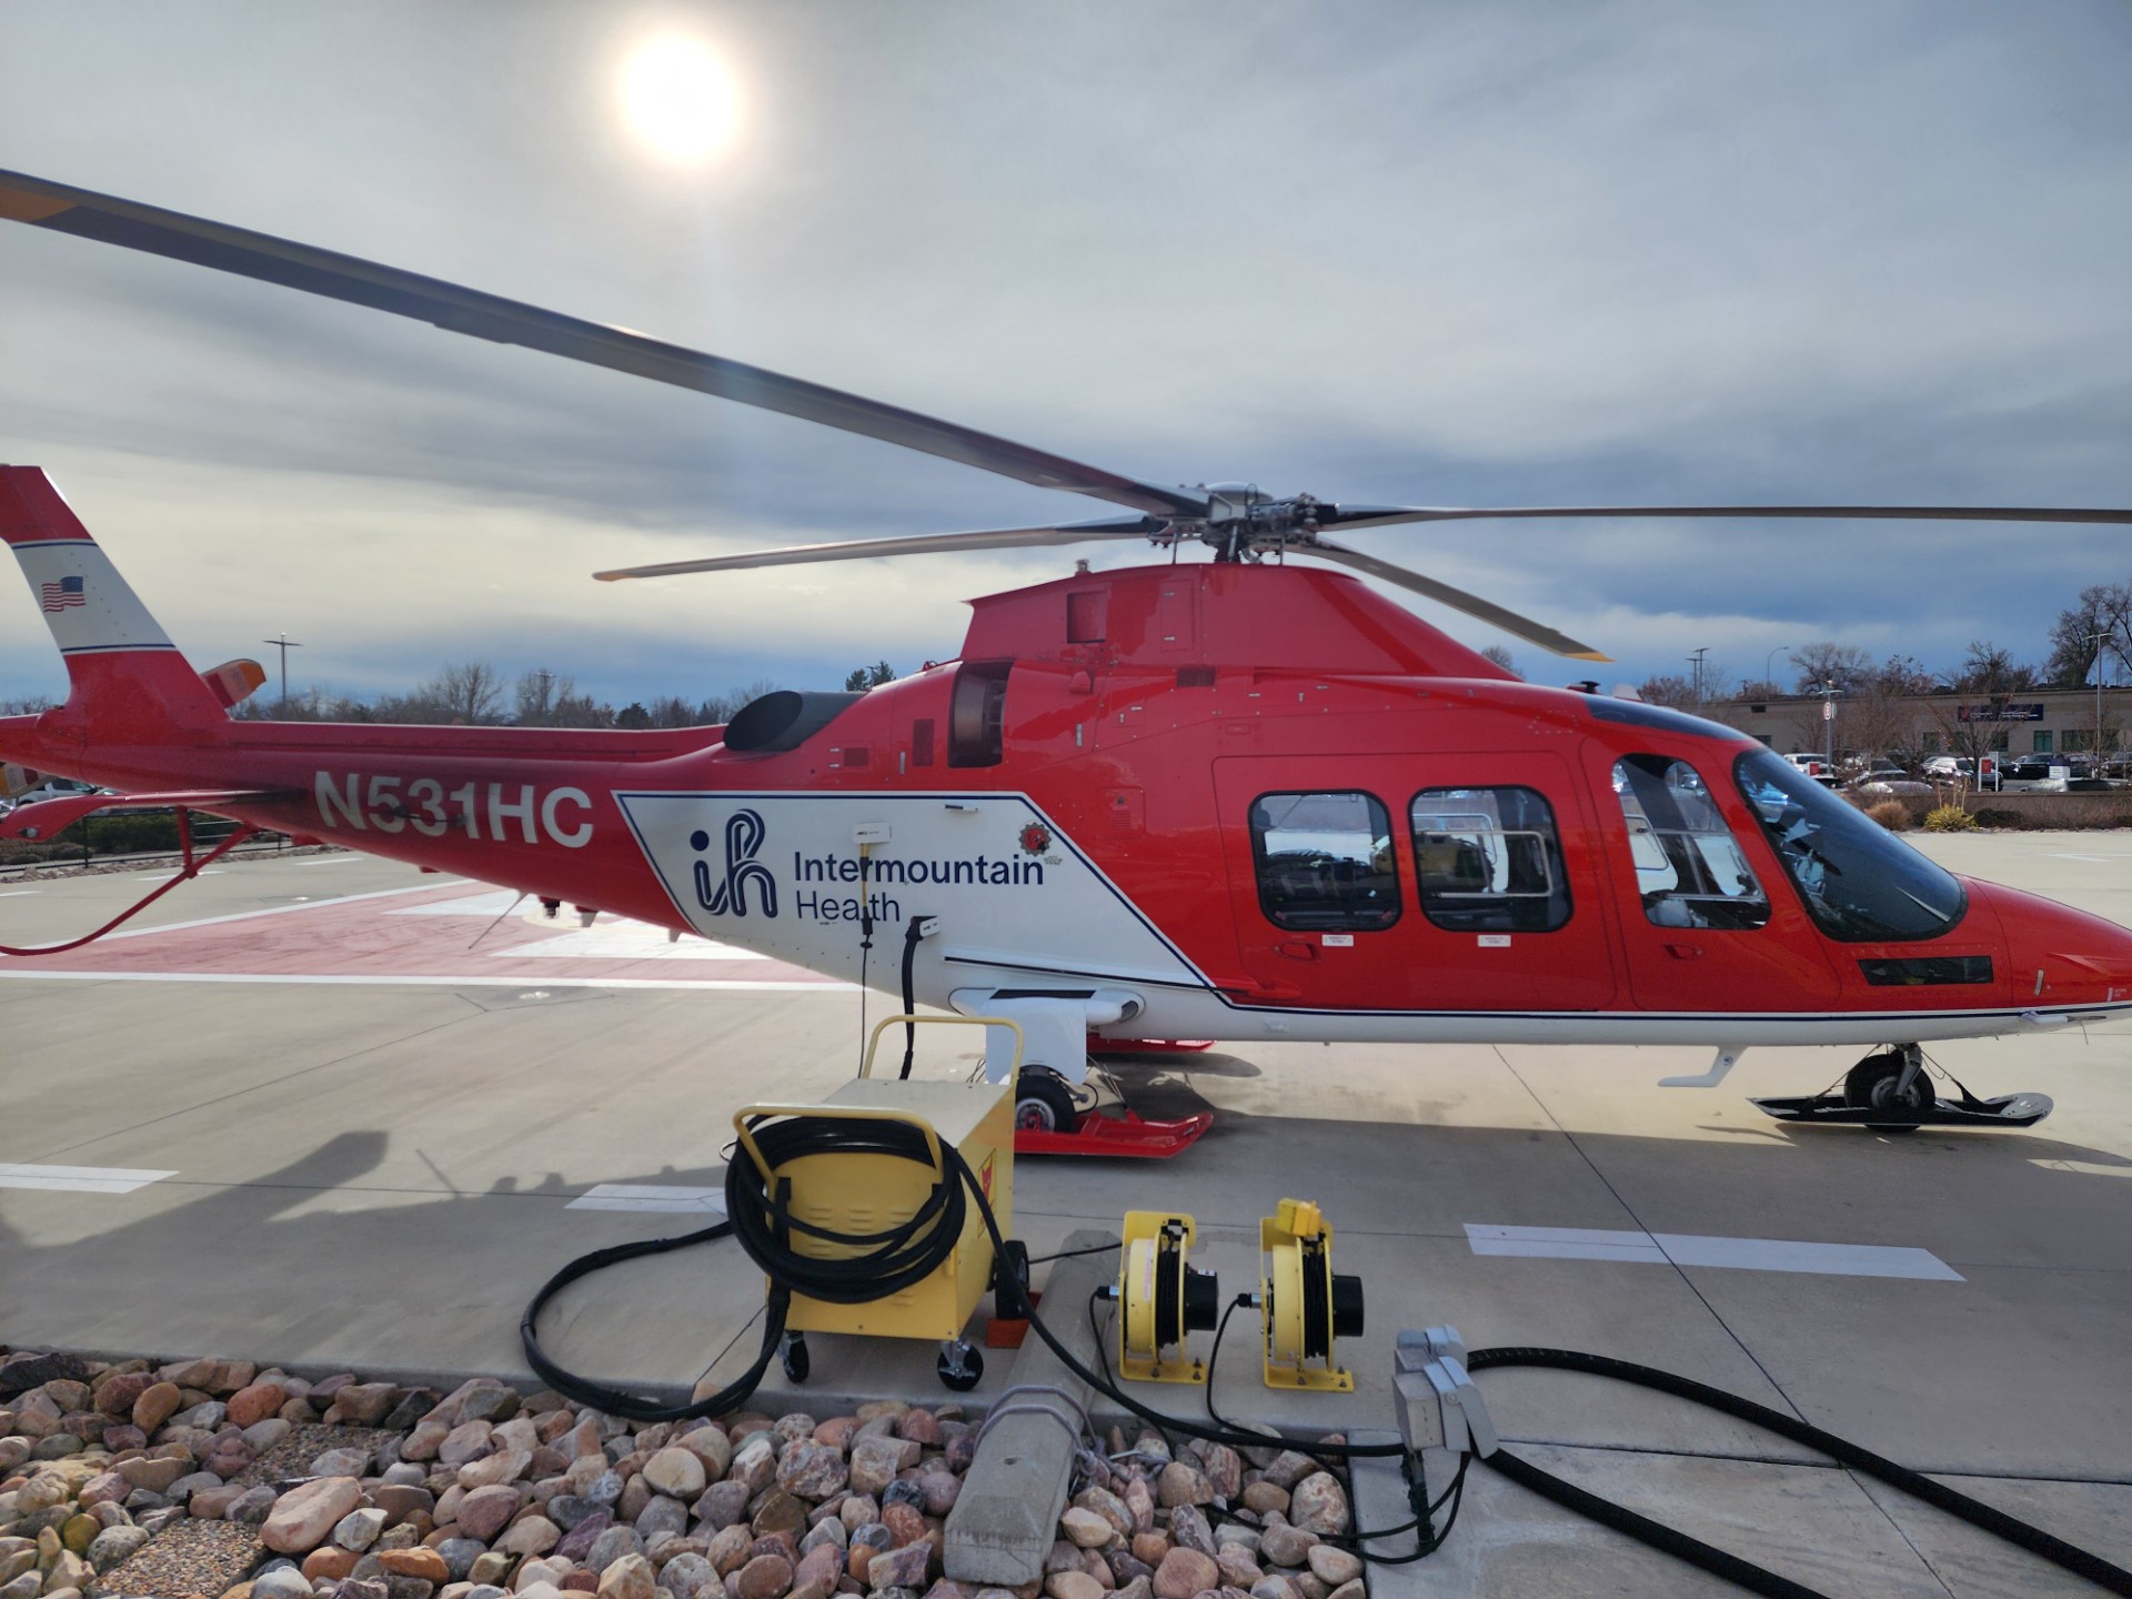
[{"label": "red and white Intermountain Health helicopter marked N531HC", "polygon": [[[1940,1100],[1921,1045],[2132,1011],[2132,932],[1957,878],[1746,736],[1516,680],[1315,556],[1556,650],[1563,633],[1332,533],[1471,518],[2132,522],[1944,505],[1352,505],[1164,486],[972,429],[156,207],[0,173],[0,217],[569,356],[902,443],[1130,514],[601,571],[652,578],[934,550],[1149,542],[1160,565],[974,601],[962,652],[725,727],[552,731],[237,721],[264,674],[196,672],[36,467],[0,537],[72,691],[0,759],[115,806],[247,827],[697,932],[908,1002],[1015,1017],[1025,1126],[1087,1119],[1096,1040],[1870,1045],[1787,1117],[2028,1126]],[[1183,546],[1213,550],[1181,563]],[[190,874],[205,859],[188,849]],[[104,930],[98,930],[104,932]],[[96,936],[96,934],[92,934]],[[79,942],[79,940],[77,940]],[[878,949],[878,953],[876,953]],[[908,1008],[908,1006],[906,1006]],[[994,1062],[1004,1072],[1004,1062]],[[1959,1087],[1959,1085],[1957,1085]]]}]

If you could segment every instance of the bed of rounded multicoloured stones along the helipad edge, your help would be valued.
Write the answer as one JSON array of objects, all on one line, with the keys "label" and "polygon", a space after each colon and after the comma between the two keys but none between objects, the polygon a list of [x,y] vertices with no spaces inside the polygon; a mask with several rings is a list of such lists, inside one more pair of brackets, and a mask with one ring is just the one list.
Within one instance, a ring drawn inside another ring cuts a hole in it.
[{"label": "bed of rounded multicoloured stones along the helipad edge", "polygon": [[0,1358],[0,1599],[1362,1599],[1320,1458],[1111,1433],[1045,1576],[940,1569],[959,1405],[631,1424],[243,1360]]}]

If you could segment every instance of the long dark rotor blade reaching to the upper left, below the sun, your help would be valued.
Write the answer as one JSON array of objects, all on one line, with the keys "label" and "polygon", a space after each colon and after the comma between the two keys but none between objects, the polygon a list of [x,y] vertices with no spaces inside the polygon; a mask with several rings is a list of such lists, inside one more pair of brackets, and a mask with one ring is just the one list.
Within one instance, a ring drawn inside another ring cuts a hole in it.
[{"label": "long dark rotor blade reaching to the upper left, below the sun", "polygon": [[584,322],[499,294],[446,284],[397,266],[382,266],[316,245],[298,245],[249,228],[232,228],[111,194],[51,183],[26,173],[0,171],[0,220],[28,222],[77,239],[94,239],[151,256],[188,260],[196,266],[256,277],[264,284],[301,288],[352,305],[369,305],[392,316],[433,322],[446,333],[518,343],[567,360],[650,377],[676,388],[693,388],[718,399],[797,416],[806,422],[859,433],[883,443],[900,443],[966,467],[996,471],[1038,488],[1064,488],[1151,516],[1202,516],[1207,497],[1183,488],[1121,478],[1047,450],[1032,450],[991,433],[942,422],[932,416],[883,405],[800,377],[750,367],[725,356],[661,343],[642,333]]}]

